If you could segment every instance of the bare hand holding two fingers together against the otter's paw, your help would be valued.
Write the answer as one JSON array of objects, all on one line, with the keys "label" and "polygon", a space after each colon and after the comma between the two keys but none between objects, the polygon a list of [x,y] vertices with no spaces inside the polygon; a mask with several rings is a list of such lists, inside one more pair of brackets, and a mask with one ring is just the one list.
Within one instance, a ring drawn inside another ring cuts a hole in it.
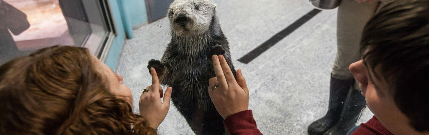
[{"label": "bare hand holding two fingers together against the otter's paw", "polygon": [[[241,69],[237,70],[236,81],[224,56],[213,55],[211,59],[216,77],[208,80],[210,85],[208,86],[208,94],[215,104],[216,110],[224,119],[232,114],[248,110],[249,90]],[[219,86],[211,90],[215,84]]]}]

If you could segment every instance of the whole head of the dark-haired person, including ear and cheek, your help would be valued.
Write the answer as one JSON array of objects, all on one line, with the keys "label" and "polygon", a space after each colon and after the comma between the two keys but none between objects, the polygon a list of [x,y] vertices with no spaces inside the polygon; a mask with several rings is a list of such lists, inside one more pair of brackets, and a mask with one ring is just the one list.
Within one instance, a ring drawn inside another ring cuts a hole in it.
[{"label": "whole head of the dark-haired person, including ear and cheek", "polygon": [[349,69],[380,122],[429,132],[429,0],[384,6],[363,30],[361,53]]}]

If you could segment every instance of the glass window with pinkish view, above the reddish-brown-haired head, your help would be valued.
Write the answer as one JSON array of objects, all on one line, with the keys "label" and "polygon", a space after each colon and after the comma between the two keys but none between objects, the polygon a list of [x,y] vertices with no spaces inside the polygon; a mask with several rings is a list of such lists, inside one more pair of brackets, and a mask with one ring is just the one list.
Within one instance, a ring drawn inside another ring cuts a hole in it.
[{"label": "glass window with pinkish view, above the reddish-brown-haired head", "polygon": [[100,5],[98,0],[0,0],[0,65],[53,45],[97,53],[108,34]]}]

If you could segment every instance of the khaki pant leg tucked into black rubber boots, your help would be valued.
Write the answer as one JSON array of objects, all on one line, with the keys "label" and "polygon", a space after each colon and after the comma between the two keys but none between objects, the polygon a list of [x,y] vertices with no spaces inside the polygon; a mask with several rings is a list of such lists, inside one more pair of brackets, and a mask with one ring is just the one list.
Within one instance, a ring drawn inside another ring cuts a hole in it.
[{"label": "khaki pant leg tucked into black rubber boots", "polygon": [[[348,67],[361,58],[359,50],[363,27],[375,14],[378,5],[378,1],[357,3],[354,0],[341,0],[337,15],[338,50],[332,68],[333,78],[353,78]],[[355,88],[359,89],[357,81],[356,84]]]}]

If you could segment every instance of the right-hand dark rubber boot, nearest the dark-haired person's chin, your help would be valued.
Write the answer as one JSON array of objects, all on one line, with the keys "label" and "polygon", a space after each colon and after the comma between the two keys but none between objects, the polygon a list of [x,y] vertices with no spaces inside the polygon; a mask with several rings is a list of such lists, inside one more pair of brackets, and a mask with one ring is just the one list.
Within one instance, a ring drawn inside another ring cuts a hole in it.
[{"label": "right-hand dark rubber boot, nearest the dark-haired person's chin", "polygon": [[356,126],[360,113],[365,107],[365,97],[362,96],[360,90],[350,90],[340,120],[323,135],[346,135],[351,128]]}]

